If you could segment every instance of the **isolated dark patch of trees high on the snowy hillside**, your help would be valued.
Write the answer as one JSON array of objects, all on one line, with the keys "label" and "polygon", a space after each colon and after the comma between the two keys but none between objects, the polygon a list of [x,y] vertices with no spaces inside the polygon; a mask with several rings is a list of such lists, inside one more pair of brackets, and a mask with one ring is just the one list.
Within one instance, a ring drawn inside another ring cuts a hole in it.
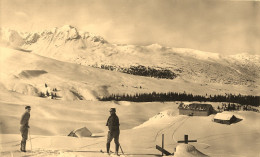
[{"label": "isolated dark patch of trees high on the snowy hillside", "polygon": [[[95,67],[95,66],[94,66]],[[129,68],[117,67],[112,65],[100,65],[101,69],[111,70],[111,71],[119,71],[131,75],[139,75],[139,76],[146,76],[146,77],[154,77],[154,78],[163,78],[163,79],[174,79],[177,75],[172,72],[171,70],[164,69],[164,68],[153,68],[153,67],[146,67],[143,65],[138,66],[130,66]]]}]

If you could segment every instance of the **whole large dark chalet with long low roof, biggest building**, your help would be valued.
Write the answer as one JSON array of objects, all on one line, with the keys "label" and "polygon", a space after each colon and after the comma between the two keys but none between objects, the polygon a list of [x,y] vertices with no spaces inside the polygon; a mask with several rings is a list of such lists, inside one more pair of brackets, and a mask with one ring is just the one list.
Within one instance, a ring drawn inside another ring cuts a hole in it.
[{"label": "whole large dark chalet with long low roof, biggest building", "polygon": [[184,103],[181,103],[178,109],[180,115],[208,116],[213,113],[211,104],[192,103],[185,105]]}]

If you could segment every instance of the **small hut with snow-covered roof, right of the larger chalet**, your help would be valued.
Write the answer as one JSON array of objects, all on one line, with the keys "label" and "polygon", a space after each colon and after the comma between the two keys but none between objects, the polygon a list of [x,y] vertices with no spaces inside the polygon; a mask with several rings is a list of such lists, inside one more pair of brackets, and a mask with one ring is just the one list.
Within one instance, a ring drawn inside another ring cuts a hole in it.
[{"label": "small hut with snow-covered roof, right of the larger chalet", "polygon": [[214,117],[214,122],[221,123],[221,124],[232,124],[237,121],[237,117],[233,114],[228,113],[218,113]]}]

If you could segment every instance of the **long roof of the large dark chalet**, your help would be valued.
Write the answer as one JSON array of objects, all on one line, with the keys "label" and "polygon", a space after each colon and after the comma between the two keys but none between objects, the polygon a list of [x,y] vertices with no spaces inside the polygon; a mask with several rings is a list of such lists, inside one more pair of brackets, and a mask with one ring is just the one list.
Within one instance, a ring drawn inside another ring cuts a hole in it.
[{"label": "long roof of the large dark chalet", "polygon": [[181,103],[178,108],[187,109],[187,110],[197,110],[197,111],[209,111],[212,109],[212,106],[211,104],[192,103],[192,104],[185,105]]}]

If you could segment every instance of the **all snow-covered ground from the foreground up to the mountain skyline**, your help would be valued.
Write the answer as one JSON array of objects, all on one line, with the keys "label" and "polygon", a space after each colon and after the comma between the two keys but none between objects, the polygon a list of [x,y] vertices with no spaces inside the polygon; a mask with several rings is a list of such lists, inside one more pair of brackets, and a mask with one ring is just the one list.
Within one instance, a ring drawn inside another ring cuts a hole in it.
[{"label": "all snow-covered ground from the foreground up to the mountain skyline", "polygon": [[[120,144],[126,156],[158,156],[161,153],[155,145],[161,145],[162,134],[165,149],[174,152],[177,148],[175,153],[179,156],[203,153],[213,157],[255,157],[260,153],[259,113],[232,112],[243,120],[222,125],[212,122],[214,115],[178,115],[180,102],[96,101],[112,93],[153,91],[259,95],[257,55],[227,57],[158,44],[115,45],[72,26],[42,32],[0,32],[1,156],[106,156],[100,149],[105,150],[105,123],[111,107],[117,108]],[[157,79],[85,66],[101,64],[167,68],[178,77]],[[56,100],[39,97],[47,91],[57,94]],[[220,105],[212,104],[215,108]],[[32,106],[33,151],[28,154],[18,151],[19,120],[26,105]],[[81,127],[89,129],[93,136],[66,136]],[[192,143],[194,147],[177,144],[184,134],[198,140]],[[113,144],[111,148],[114,149]]]}]

